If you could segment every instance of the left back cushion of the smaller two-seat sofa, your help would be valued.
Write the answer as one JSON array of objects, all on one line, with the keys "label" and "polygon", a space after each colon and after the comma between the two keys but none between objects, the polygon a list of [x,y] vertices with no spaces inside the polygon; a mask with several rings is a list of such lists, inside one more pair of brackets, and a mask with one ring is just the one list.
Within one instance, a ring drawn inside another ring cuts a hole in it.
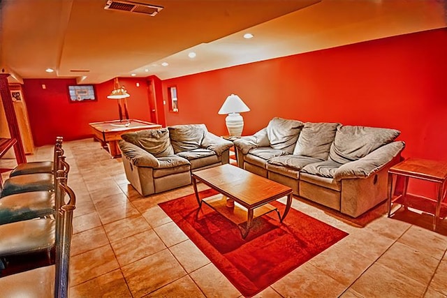
[{"label": "left back cushion of the smaller two-seat sofa", "polygon": [[145,149],[155,157],[164,157],[174,154],[173,146],[170,144],[169,131],[167,128],[148,129],[124,133],[121,138],[126,142]]}]

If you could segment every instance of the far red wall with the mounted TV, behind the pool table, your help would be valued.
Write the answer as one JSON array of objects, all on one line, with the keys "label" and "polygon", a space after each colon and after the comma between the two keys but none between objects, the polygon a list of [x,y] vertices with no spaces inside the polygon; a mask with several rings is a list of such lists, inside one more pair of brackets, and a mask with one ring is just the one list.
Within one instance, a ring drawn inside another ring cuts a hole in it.
[{"label": "far red wall with the mounted TV, behind the pool table", "polygon": [[[136,87],[136,83],[140,87]],[[42,88],[45,84],[46,89]],[[34,144],[53,144],[57,135],[64,140],[91,137],[90,122],[119,119],[117,100],[106,96],[113,89],[113,80],[96,84],[97,101],[71,103],[68,85],[74,79],[27,79],[23,93],[26,98]],[[119,84],[131,94],[127,100],[129,117],[150,121],[148,85],[144,78],[120,78]]]}]

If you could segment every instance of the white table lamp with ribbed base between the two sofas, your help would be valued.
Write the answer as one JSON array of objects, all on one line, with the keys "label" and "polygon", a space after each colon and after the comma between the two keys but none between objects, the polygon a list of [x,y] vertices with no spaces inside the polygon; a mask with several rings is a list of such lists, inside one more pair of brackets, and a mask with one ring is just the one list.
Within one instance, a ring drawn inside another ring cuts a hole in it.
[{"label": "white table lamp with ribbed base between the two sofas", "polygon": [[230,136],[240,137],[242,135],[244,119],[239,113],[249,112],[249,110],[249,107],[247,107],[239,96],[231,94],[226,98],[218,114],[228,114],[225,121]]}]

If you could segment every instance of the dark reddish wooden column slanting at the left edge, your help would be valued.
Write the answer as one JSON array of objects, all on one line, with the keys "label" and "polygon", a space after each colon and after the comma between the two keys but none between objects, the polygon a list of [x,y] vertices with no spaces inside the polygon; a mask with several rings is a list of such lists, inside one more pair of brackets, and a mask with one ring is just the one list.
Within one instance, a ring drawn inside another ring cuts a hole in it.
[{"label": "dark reddish wooden column slanting at the left edge", "polygon": [[11,97],[11,93],[9,91],[8,77],[8,73],[0,73],[0,96],[5,109],[6,121],[8,121],[9,133],[11,137],[17,140],[14,145],[15,159],[17,160],[18,164],[26,163],[27,157],[25,156],[22,137],[20,137],[19,124],[17,124],[17,117],[15,116],[13,98]]}]

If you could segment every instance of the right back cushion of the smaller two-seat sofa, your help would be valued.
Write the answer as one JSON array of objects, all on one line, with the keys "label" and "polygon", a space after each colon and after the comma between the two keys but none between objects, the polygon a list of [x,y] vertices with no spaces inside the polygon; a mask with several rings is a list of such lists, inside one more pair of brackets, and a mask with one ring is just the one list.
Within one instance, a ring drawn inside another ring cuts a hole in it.
[{"label": "right back cushion of the smaller two-seat sofa", "polygon": [[207,133],[205,124],[175,125],[169,126],[168,129],[175,154],[200,148]]}]

